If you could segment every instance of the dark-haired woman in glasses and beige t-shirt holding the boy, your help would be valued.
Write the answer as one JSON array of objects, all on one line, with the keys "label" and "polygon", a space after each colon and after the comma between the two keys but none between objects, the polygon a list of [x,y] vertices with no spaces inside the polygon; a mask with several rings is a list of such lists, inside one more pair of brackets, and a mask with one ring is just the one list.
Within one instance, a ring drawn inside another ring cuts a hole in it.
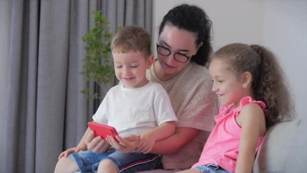
[{"label": "dark-haired woman in glasses and beige t-shirt holding the boy", "polygon": [[[211,26],[203,10],[183,4],[171,9],[159,28],[158,58],[146,77],[162,84],[178,118],[175,134],[151,150],[163,155],[164,169],[186,169],[197,162],[215,124],[217,97],[204,67],[212,51]],[[120,142],[113,147],[129,148],[127,140]]]}]

